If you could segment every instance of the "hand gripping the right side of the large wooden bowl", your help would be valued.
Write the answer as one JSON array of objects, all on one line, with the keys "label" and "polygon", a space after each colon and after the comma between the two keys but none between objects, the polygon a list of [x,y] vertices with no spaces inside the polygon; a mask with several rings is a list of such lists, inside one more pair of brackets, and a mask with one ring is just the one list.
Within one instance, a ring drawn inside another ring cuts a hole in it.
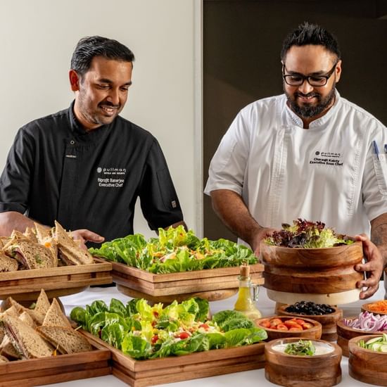
[{"label": "hand gripping the right side of the large wooden bowl", "polygon": [[366,279],[357,281],[357,288],[367,288],[360,292],[360,299],[371,297],[379,288],[379,280],[383,273],[383,258],[379,249],[369,240],[367,235],[360,234],[355,236],[356,241],[362,241],[364,258],[367,263],[358,263],[355,265],[357,272],[366,272]]}]

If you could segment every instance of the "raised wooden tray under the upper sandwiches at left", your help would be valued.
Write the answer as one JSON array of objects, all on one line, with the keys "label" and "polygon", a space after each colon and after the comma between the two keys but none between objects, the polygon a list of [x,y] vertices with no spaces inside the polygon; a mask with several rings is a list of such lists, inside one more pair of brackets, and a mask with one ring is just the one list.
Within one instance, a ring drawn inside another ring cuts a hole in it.
[{"label": "raised wooden tray under the upper sandwiches at left", "polygon": [[49,298],[78,293],[90,285],[111,284],[112,265],[96,260],[93,265],[50,267],[0,273],[0,300],[37,300],[42,288]]}]

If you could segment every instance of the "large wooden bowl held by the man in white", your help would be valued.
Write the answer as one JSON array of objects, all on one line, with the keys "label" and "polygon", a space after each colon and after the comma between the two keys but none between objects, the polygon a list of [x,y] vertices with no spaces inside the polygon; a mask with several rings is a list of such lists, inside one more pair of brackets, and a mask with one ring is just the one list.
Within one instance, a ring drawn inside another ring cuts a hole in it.
[{"label": "large wooden bowl held by the man in white", "polygon": [[281,303],[312,300],[337,305],[359,299],[355,265],[363,259],[362,243],[331,248],[288,248],[260,243],[267,295]]}]

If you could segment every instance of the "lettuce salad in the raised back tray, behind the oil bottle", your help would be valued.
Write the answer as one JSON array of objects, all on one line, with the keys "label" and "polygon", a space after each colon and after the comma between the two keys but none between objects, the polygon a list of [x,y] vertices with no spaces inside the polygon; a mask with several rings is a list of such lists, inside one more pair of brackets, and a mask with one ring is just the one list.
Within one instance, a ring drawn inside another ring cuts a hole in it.
[{"label": "lettuce salad in the raised back tray, behind the oil bottle", "polygon": [[125,263],[155,274],[186,272],[217,267],[235,267],[258,260],[253,251],[227,239],[199,239],[183,226],[158,229],[158,238],[148,241],[141,234],[128,235],[90,248],[92,255]]}]

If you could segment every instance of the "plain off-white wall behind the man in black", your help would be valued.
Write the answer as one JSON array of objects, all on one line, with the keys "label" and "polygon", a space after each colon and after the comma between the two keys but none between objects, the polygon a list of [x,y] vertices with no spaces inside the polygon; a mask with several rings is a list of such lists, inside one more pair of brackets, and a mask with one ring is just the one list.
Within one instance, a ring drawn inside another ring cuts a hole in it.
[{"label": "plain off-white wall behind the man in black", "polygon": [[[78,40],[117,39],[136,56],[121,114],[158,139],[201,234],[200,12],[200,0],[0,0],[0,170],[20,126],[69,106]],[[139,206],[134,231],[154,236]]]}]

